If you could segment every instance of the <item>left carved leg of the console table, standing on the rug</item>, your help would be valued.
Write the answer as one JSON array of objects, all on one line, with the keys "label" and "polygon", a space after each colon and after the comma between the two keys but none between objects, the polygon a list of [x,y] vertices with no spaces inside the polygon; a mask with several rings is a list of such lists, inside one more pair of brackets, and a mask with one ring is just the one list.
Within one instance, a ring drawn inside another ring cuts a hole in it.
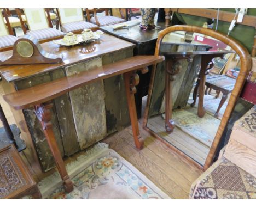
[{"label": "left carved leg of the console table, standing on the rug", "polygon": [[51,150],[51,154],[53,154],[57,168],[60,172],[65,190],[67,192],[71,192],[73,190],[73,184],[67,174],[64,161],[62,160],[61,153],[57,146],[57,142],[53,133],[53,126],[51,124],[51,107],[53,107],[53,104],[51,103],[51,101],[48,101],[43,104],[34,106],[34,111],[37,115],[37,118],[41,122],[42,128],[44,130],[44,135]]}]

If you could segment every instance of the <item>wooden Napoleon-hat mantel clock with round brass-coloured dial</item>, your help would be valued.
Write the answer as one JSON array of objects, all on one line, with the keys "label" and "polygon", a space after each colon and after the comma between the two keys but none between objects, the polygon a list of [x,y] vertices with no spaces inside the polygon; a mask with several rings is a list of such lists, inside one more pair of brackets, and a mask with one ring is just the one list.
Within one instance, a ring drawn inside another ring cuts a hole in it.
[{"label": "wooden Napoleon-hat mantel clock with round brass-coloured dial", "polygon": [[24,35],[14,43],[12,56],[2,58],[0,65],[60,63],[62,58],[62,54],[44,51],[38,40],[31,35]]}]

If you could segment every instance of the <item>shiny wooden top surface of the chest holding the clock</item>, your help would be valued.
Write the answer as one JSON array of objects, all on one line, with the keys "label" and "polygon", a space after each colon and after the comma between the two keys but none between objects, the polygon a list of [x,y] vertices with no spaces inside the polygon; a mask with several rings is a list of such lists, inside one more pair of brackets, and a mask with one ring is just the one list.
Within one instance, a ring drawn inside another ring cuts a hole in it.
[{"label": "shiny wooden top surface of the chest holding the clock", "polygon": [[[126,48],[132,48],[135,45],[131,42],[115,38],[112,35],[103,34],[99,41],[90,44],[79,44],[77,46],[60,46],[53,42],[41,44],[43,50],[48,53],[63,54],[62,62],[57,64],[30,64],[30,65],[10,65],[0,66],[1,76],[8,82],[19,81],[20,79],[44,74],[45,72],[60,69],[66,66],[85,62],[92,58],[103,56],[113,51],[121,51]],[[11,56],[12,51],[0,53],[1,57]]]}]

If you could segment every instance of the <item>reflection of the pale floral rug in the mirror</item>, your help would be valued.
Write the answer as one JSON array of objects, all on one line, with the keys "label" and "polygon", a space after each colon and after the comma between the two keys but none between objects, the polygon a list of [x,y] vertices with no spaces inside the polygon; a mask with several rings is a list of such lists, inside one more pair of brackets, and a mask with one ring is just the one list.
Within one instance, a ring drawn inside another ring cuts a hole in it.
[{"label": "reflection of the pale floral rug in the mirror", "polygon": [[208,113],[203,118],[199,118],[195,107],[175,109],[172,113],[172,119],[177,127],[208,147],[211,147],[220,124],[219,119]]}]

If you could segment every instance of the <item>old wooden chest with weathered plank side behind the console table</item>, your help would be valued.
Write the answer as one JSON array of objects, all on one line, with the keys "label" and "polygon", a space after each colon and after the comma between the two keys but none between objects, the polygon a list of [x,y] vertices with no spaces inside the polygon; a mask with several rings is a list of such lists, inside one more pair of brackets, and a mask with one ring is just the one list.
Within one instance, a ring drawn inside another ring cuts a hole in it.
[{"label": "old wooden chest with weathered plank side behind the console table", "polygon": [[[135,47],[131,42],[108,34],[101,35],[100,40],[90,44],[66,47],[47,42],[41,46],[49,53],[62,53],[62,62],[0,66],[3,78],[1,84],[5,94],[132,57]],[[11,53],[12,51],[0,53],[0,59],[10,56]],[[54,158],[34,109],[11,110],[21,137],[27,145],[24,154],[29,162],[37,164],[38,173],[54,168]],[[56,97],[50,111],[61,156],[71,156],[84,150],[130,125],[124,76],[109,77]]]}]

